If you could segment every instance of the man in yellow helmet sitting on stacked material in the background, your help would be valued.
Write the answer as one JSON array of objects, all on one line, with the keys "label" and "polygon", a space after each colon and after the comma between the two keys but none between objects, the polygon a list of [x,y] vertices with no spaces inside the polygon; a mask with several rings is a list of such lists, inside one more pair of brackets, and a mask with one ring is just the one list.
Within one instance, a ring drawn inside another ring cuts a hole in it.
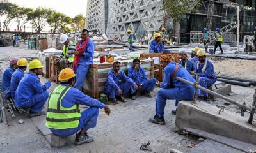
[{"label": "man in yellow helmet sitting on stacked material in the background", "polygon": [[149,53],[170,52],[170,50],[164,49],[159,33],[155,33],[154,38],[155,39],[150,42]]}]

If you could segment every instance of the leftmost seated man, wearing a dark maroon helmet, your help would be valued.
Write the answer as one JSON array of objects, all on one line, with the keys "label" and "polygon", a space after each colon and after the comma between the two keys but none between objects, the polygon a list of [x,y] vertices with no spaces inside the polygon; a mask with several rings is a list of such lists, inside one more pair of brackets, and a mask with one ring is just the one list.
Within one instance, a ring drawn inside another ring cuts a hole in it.
[{"label": "leftmost seated man, wearing a dark maroon helmet", "polygon": [[5,69],[3,73],[3,78],[1,82],[1,91],[4,92],[6,89],[10,90],[11,88],[11,78],[17,66],[18,59],[11,59],[9,62],[10,67]]}]

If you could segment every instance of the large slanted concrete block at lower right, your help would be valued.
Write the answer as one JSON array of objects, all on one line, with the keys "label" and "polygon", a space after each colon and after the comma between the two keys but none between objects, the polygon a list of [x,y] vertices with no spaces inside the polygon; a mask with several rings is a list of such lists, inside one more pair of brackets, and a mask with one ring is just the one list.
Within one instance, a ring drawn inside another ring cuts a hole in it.
[{"label": "large slanted concrete block at lower right", "polygon": [[228,110],[220,114],[218,112],[219,109],[216,106],[204,102],[192,104],[189,101],[180,101],[175,120],[176,126],[200,129],[256,145],[255,122],[253,122],[254,125],[250,125],[248,118]]}]

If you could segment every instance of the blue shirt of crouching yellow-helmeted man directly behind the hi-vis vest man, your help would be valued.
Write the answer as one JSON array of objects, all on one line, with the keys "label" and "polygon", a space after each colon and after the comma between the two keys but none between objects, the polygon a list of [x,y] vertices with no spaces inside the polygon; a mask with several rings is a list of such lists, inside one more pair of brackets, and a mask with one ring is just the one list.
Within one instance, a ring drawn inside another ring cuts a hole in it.
[{"label": "blue shirt of crouching yellow-helmeted man directly behind the hi-vis vest man", "polygon": [[29,73],[25,74],[20,80],[20,84],[16,89],[15,105],[20,107],[22,104],[28,103],[32,96],[45,92],[50,86],[51,82],[48,81],[42,85],[37,75],[29,71]]}]

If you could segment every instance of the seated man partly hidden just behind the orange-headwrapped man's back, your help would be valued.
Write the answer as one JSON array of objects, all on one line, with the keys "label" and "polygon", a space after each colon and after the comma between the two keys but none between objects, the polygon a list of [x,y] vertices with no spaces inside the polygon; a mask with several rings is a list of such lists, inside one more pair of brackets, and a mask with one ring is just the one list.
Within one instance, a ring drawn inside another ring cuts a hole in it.
[{"label": "seated man partly hidden just behind the orange-headwrapped man's back", "polygon": [[187,69],[187,71],[191,75],[193,75],[194,70],[195,70],[195,66],[194,66],[193,62],[188,59],[188,56],[185,51],[180,51],[179,55],[180,55],[180,59],[181,59],[179,61],[179,64],[182,65],[185,69]]}]

